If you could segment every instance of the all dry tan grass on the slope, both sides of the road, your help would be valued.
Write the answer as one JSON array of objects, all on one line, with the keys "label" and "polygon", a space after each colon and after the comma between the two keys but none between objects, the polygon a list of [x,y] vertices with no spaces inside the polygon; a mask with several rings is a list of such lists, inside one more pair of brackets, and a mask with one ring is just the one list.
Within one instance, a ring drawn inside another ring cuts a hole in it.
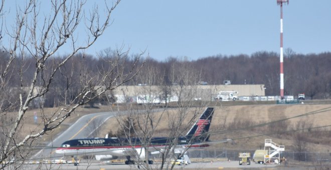
[{"label": "all dry tan grass on the slope, both sides of the road", "polygon": [[[270,122],[274,120],[294,117],[300,114],[308,113],[311,111],[321,110],[324,108],[331,108],[331,103],[329,100],[311,100],[304,101],[304,104],[275,104],[275,102],[258,102],[258,101],[236,101],[236,102],[222,102],[222,103],[212,103],[211,105],[216,105],[216,111],[212,120],[210,131],[213,132],[211,135],[211,140],[218,140],[224,138],[233,138],[234,142],[222,143],[214,145],[213,147],[226,147],[229,149],[258,149],[264,144],[265,138],[272,138],[273,141],[279,144],[284,144],[286,149],[294,149],[295,139],[293,138],[294,133],[274,133],[280,131],[288,131],[297,128],[298,124],[302,122],[305,126],[302,127],[316,127],[323,125],[331,125],[331,111],[327,110],[311,115],[300,116],[296,118],[290,118],[286,120],[283,124],[275,123],[274,126],[261,126],[257,128],[247,128],[242,130],[235,130],[242,127],[247,127],[256,124],[262,124],[265,122]],[[51,113],[57,108],[46,108],[45,113]],[[48,135],[44,135],[42,143],[47,143],[56,136],[58,133],[67,129],[69,124],[76,121],[80,116],[94,113],[118,109],[110,106],[99,106],[98,108],[84,108],[80,107],[77,109],[69,118],[67,118],[64,123],[50,132]],[[122,108],[121,108],[122,109]],[[176,109],[175,109],[176,110]],[[24,126],[21,130],[21,134],[28,134],[35,132],[42,128],[41,119],[38,119],[38,123],[34,123],[33,115],[34,112],[40,116],[41,110],[30,110],[27,112],[24,119]],[[176,111],[175,111],[176,112]],[[159,115],[160,113],[158,113]],[[15,115],[15,114],[13,114]],[[115,118],[110,118],[107,122],[100,128],[100,136],[103,137],[110,130],[116,132],[119,124]],[[235,130],[233,132],[223,130]],[[169,133],[169,122],[167,118],[163,118],[158,124],[155,136],[163,136]],[[321,131],[321,132],[320,132]],[[299,131],[306,135],[306,149],[307,151],[325,151],[331,150],[331,132],[330,128],[319,128]],[[186,131],[183,131],[186,133]],[[263,135],[265,134],[265,135]],[[260,135],[260,136],[258,136]]]}]

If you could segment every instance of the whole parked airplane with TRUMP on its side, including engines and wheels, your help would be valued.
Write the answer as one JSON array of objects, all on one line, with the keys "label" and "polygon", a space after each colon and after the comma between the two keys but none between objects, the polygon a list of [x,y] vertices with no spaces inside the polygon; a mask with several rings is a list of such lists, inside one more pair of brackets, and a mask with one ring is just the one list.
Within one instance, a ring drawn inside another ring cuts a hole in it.
[{"label": "whole parked airplane with TRUMP on its side, including engines and wheels", "polygon": [[[148,154],[159,154],[171,143],[176,143],[175,153],[183,153],[186,148],[201,148],[209,146],[208,133],[214,107],[207,107],[199,119],[194,123],[185,136],[175,137],[152,137],[148,146],[143,146],[139,137],[130,138],[81,138],[65,141],[56,149],[56,153],[64,155],[77,154],[95,154],[97,160],[116,159],[118,156],[126,156],[125,164],[134,164],[130,159],[132,155],[139,155],[141,159],[145,158],[145,148],[148,147]],[[174,141],[175,140],[175,141]],[[227,142],[231,139],[219,140],[218,142]],[[152,164],[152,160],[148,160]]]}]

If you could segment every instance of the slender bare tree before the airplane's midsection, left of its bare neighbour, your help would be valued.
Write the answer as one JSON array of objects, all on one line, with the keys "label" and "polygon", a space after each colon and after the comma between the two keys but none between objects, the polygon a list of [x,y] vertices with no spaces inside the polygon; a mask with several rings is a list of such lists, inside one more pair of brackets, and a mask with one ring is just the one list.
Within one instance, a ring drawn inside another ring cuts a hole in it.
[{"label": "slender bare tree before the airplane's midsection, left of its bare neighbour", "polygon": [[[157,129],[166,110],[166,107],[160,109],[160,114],[156,115],[154,108],[158,108],[161,103],[161,91],[155,86],[155,84],[160,84],[162,81],[161,71],[155,67],[153,64],[149,64],[141,70],[141,74],[137,75],[137,82],[141,82],[143,85],[139,86],[141,88],[135,90],[135,95],[137,96],[137,101],[142,102],[136,107],[128,107],[129,114],[128,119],[130,119],[130,127],[132,130],[126,130],[125,137],[130,138],[136,136],[141,142],[141,149],[135,149],[131,154],[132,157],[140,166],[149,169],[149,145],[151,143],[151,138],[155,135],[155,130]],[[140,110],[140,111],[139,111]],[[142,111],[141,111],[142,110]],[[135,120],[137,123],[134,124]],[[128,127],[122,127],[127,128]],[[132,146],[135,141],[130,141]]]}]

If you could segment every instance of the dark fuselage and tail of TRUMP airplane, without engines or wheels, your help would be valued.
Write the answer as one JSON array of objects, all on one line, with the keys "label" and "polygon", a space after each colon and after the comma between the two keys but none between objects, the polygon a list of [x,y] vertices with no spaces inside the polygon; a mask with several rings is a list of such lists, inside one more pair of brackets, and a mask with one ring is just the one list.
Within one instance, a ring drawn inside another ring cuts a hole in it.
[{"label": "dark fuselage and tail of TRUMP airplane, without engines or wheels", "polygon": [[[69,154],[111,154],[125,155],[125,150],[132,148],[162,148],[167,145],[185,146],[185,147],[205,147],[205,142],[209,139],[207,133],[211,124],[214,107],[207,107],[200,118],[194,123],[185,136],[178,138],[152,137],[147,140],[140,140],[138,137],[130,138],[82,138],[65,141],[56,149],[56,153]],[[145,144],[148,143],[148,144]],[[159,150],[160,150],[159,149]],[[151,149],[152,150],[152,149]]]}]

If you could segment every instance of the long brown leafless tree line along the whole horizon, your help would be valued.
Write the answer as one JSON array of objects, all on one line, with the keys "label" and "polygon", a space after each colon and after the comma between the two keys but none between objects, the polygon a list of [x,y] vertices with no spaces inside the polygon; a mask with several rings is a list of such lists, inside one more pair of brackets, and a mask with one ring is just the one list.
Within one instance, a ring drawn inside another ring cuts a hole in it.
[{"label": "long brown leafless tree line along the whole horizon", "polygon": [[[105,49],[98,54],[92,56],[87,54],[76,54],[64,65],[63,68],[55,75],[54,82],[50,87],[51,92],[48,96],[42,99],[35,99],[36,104],[39,101],[44,101],[43,106],[52,107],[66,104],[64,98],[74,97],[80,91],[83,79],[88,76],[98,76],[100,68],[110,67],[109,64],[104,64],[104,60],[110,59],[116,55],[114,51]],[[125,58],[123,62],[131,65],[138,56],[132,55]],[[0,53],[1,65],[4,67],[8,59],[6,53]],[[56,63],[61,56],[54,57],[46,64]],[[20,62],[25,62],[24,68],[14,68],[13,74],[24,71],[24,76],[12,76],[8,83],[13,92],[13,101],[17,102],[14,94],[20,90],[21,86],[28,86],[30,83],[35,65],[33,58],[24,58]],[[17,63],[16,65],[21,65]],[[323,52],[319,54],[296,54],[290,49],[285,50],[284,57],[284,88],[285,95],[297,95],[305,93],[311,98],[330,98],[331,94],[331,52]],[[130,72],[130,66],[127,66]],[[51,71],[51,70],[44,70]],[[200,81],[208,82],[208,84],[222,84],[223,80],[231,80],[232,84],[265,84],[266,95],[279,95],[279,55],[276,52],[259,51],[251,55],[215,55],[200,58],[197,60],[188,60],[186,58],[169,57],[164,61],[155,59],[147,59],[146,65],[140,73],[134,77],[126,85],[149,84],[160,85],[165,89],[169,85],[184,83],[180,72],[191,72],[190,83],[198,84]],[[16,72],[16,73],[15,73]],[[188,74],[189,75],[189,74]],[[111,76],[111,75],[109,75]],[[145,78],[148,76],[149,78]],[[153,77],[153,78],[150,78]],[[21,80],[22,78],[22,84]],[[41,80],[44,77],[39,77]],[[149,79],[146,82],[146,79]],[[25,84],[26,82],[26,84]],[[70,88],[70,89],[67,89]],[[16,90],[15,90],[16,89]],[[24,88],[23,88],[24,89]],[[64,92],[63,90],[67,89]],[[23,96],[24,97],[24,96]],[[8,96],[10,99],[11,96]],[[99,97],[100,100],[106,100],[107,97]],[[79,100],[79,98],[77,98]],[[93,104],[93,102],[92,102]],[[35,105],[36,106],[36,105]]]}]

